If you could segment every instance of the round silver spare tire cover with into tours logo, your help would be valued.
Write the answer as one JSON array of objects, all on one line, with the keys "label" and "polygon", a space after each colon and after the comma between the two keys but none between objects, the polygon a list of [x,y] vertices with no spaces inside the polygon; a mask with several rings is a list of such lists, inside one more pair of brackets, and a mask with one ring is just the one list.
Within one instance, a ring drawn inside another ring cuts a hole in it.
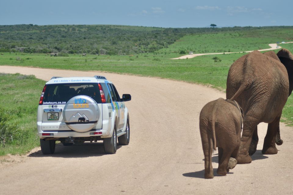
[{"label": "round silver spare tire cover with into tours logo", "polygon": [[72,97],[64,107],[63,120],[73,131],[86,132],[96,126],[99,107],[95,100],[85,95]]}]

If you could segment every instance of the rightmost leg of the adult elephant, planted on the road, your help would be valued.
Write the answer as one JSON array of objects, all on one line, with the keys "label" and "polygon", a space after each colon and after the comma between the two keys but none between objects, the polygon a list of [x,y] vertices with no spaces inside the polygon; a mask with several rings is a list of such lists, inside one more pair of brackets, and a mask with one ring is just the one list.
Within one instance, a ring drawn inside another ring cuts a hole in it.
[{"label": "rightmost leg of the adult elephant, planted on the road", "polygon": [[277,154],[278,149],[275,144],[275,137],[280,125],[280,117],[278,117],[274,122],[268,124],[268,130],[266,132],[266,137],[263,142],[262,154]]}]

